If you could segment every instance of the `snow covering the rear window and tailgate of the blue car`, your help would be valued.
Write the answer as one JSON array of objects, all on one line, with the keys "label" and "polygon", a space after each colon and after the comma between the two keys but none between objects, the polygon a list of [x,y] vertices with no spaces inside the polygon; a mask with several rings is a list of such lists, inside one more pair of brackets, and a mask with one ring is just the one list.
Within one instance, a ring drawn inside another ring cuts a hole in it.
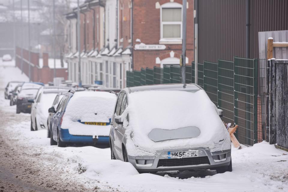
[{"label": "snow covering the rear window and tailgate of the blue car", "polygon": [[116,95],[108,92],[76,92],[68,102],[61,128],[69,129],[72,135],[108,136],[110,125],[85,125],[78,121],[109,123],[115,101]]}]

